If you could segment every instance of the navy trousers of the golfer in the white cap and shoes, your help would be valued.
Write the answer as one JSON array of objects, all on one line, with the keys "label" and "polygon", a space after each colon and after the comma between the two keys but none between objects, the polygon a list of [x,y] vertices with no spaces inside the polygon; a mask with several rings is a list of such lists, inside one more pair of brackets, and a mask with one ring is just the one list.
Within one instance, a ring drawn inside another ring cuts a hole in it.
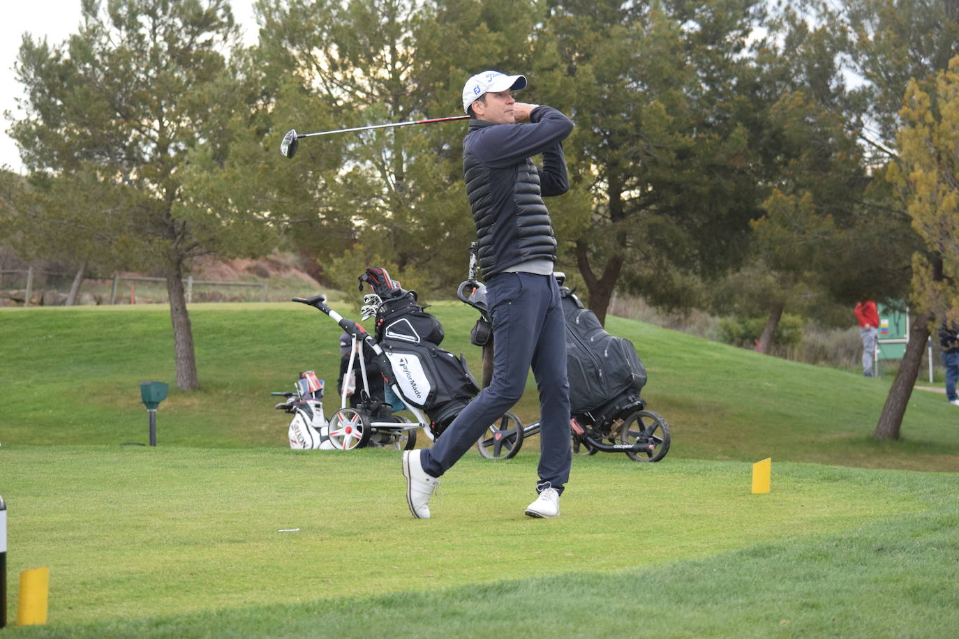
[{"label": "navy trousers of the golfer in the white cap and shoes", "polygon": [[486,282],[493,320],[493,378],[456,416],[433,447],[421,453],[423,469],[439,477],[489,425],[523,397],[532,366],[540,395],[540,462],[537,490],[562,492],[570,478],[570,383],[566,377],[566,324],[559,287],[551,275],[497,273]]}]

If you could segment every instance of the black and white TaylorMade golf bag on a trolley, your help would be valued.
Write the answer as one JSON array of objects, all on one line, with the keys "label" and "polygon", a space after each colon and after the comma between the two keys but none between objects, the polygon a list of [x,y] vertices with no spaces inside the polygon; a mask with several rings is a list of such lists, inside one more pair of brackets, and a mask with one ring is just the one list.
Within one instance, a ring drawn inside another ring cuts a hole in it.
[{"label": "black and white TaylorMade golf bag on a trolley", "polygon": [[438,437],[479,393],[476,379],[462,354],[439,347],[443,327],[418,304],[416,291],[401,288],[383,268],[367,268],[360,281],[379,296],[374,336],[396,384],[404,399],[427,414]]}]

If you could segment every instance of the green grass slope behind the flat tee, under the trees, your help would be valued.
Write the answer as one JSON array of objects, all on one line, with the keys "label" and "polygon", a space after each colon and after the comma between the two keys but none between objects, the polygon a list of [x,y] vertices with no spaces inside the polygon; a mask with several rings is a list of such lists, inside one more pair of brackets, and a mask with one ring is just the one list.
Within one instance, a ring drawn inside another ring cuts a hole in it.
[{"label": "green grass slope behind the flat tee, under the trees", "polygon": [[[431,310],[444,347],[464,352],[479,374],[479,349],[469,343],[476,312],[458,303]],[[146,442],[138,386],[146,379],[171,385],[157,413],[159,445],[285,447],[288,416],[273,410],[269,392],[289,390],[303,370],[327,380],[327,414],[339,405],[340,331],[325,315],[292,303],[193,305],[190,315],[196,393],[175,389],[165,307],[0,311],[0,445]],[[878,443],[870,436],[887,382],[617,317],[607,329],[643,358],[643,397],[672,426],[669,458],[959,469],[959,411],[941,395],[914,392],[901,441]],[[531,422],[537,410],[530,380],[515,412]],[[535,441],[520,454],[535,455]]]}]

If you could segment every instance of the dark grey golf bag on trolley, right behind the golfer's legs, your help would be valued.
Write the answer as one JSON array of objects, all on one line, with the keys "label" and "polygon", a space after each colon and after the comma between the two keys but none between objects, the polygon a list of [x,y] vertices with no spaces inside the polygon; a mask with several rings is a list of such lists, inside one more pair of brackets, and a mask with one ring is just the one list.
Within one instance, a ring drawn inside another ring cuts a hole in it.
[{"label": "dark grey golf bag on trolley, right behind the golfer's legs", "polygon": [[638,398],[646,371],[632,342],[606,332],[596,314],[584,308],[566,286],[560,287],[560,297],[566,319],[566,370],[573,414]]}]

